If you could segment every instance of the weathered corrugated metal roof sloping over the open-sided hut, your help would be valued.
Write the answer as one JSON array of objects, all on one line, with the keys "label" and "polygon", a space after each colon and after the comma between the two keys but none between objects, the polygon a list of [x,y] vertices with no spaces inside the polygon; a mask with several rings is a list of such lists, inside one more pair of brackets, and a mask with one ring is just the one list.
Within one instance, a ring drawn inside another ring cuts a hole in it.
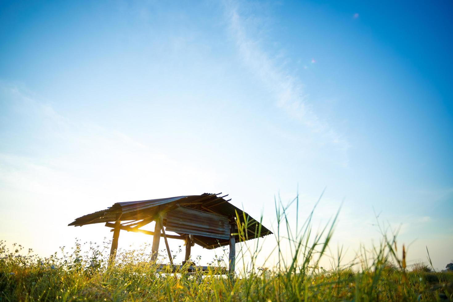
[{"label": "weathered corrugated metal roof sloping over the open-sided hut", "polygon": [[[171,207],[176,206],[186,206],[193,209],[199,208],[201,211],[207,211],[214,214],[219,214],[226,216],[230,224],[239,224],[247,223],[247,234],[248,239],[254,239],[257,237],[264,237],[265,235],[270,235],[272,232],[265,228],[264,225],[261,225],[260,234],[255,234],[256,230],[259,228],[259,221],[256,221],[246,212],[232,205],[225,200],[224,197],[217,197],[218,194],[209,194],[204,193],[202,195],[189,195],[189,196],[178,196],[178,197],[169,197],[169,198],[159,198],[151,200],[142,200],[142,201],[127,201],[127,202],[117,202],[111,207],[102,210],[96,211],[92,214],[87,214],[81,217],[78,217],[69,225],[82,226],[95,223],[105,223],[105,222],[114,222],[117,219],[121,221],[133,221],[141,219],[153,219],[159,211],[162,211],[162,207]],[[235,221],[236,212],[239,216],[239,221]],[[246,217],[244,219],[244,216]],[[166,221],[164,221],[164,225]],[[179,235],[184,235],[185,233],[178,233]],[[224,236],[219,236],[224,237]],[[194,240],[198,245],[206,249],[214,249],[219,246],[229,244],[229,241],[224,238],[214,238],[202,235],[194,235]],[[236,235],[236,242],[239,241],[239,237]]]}]

